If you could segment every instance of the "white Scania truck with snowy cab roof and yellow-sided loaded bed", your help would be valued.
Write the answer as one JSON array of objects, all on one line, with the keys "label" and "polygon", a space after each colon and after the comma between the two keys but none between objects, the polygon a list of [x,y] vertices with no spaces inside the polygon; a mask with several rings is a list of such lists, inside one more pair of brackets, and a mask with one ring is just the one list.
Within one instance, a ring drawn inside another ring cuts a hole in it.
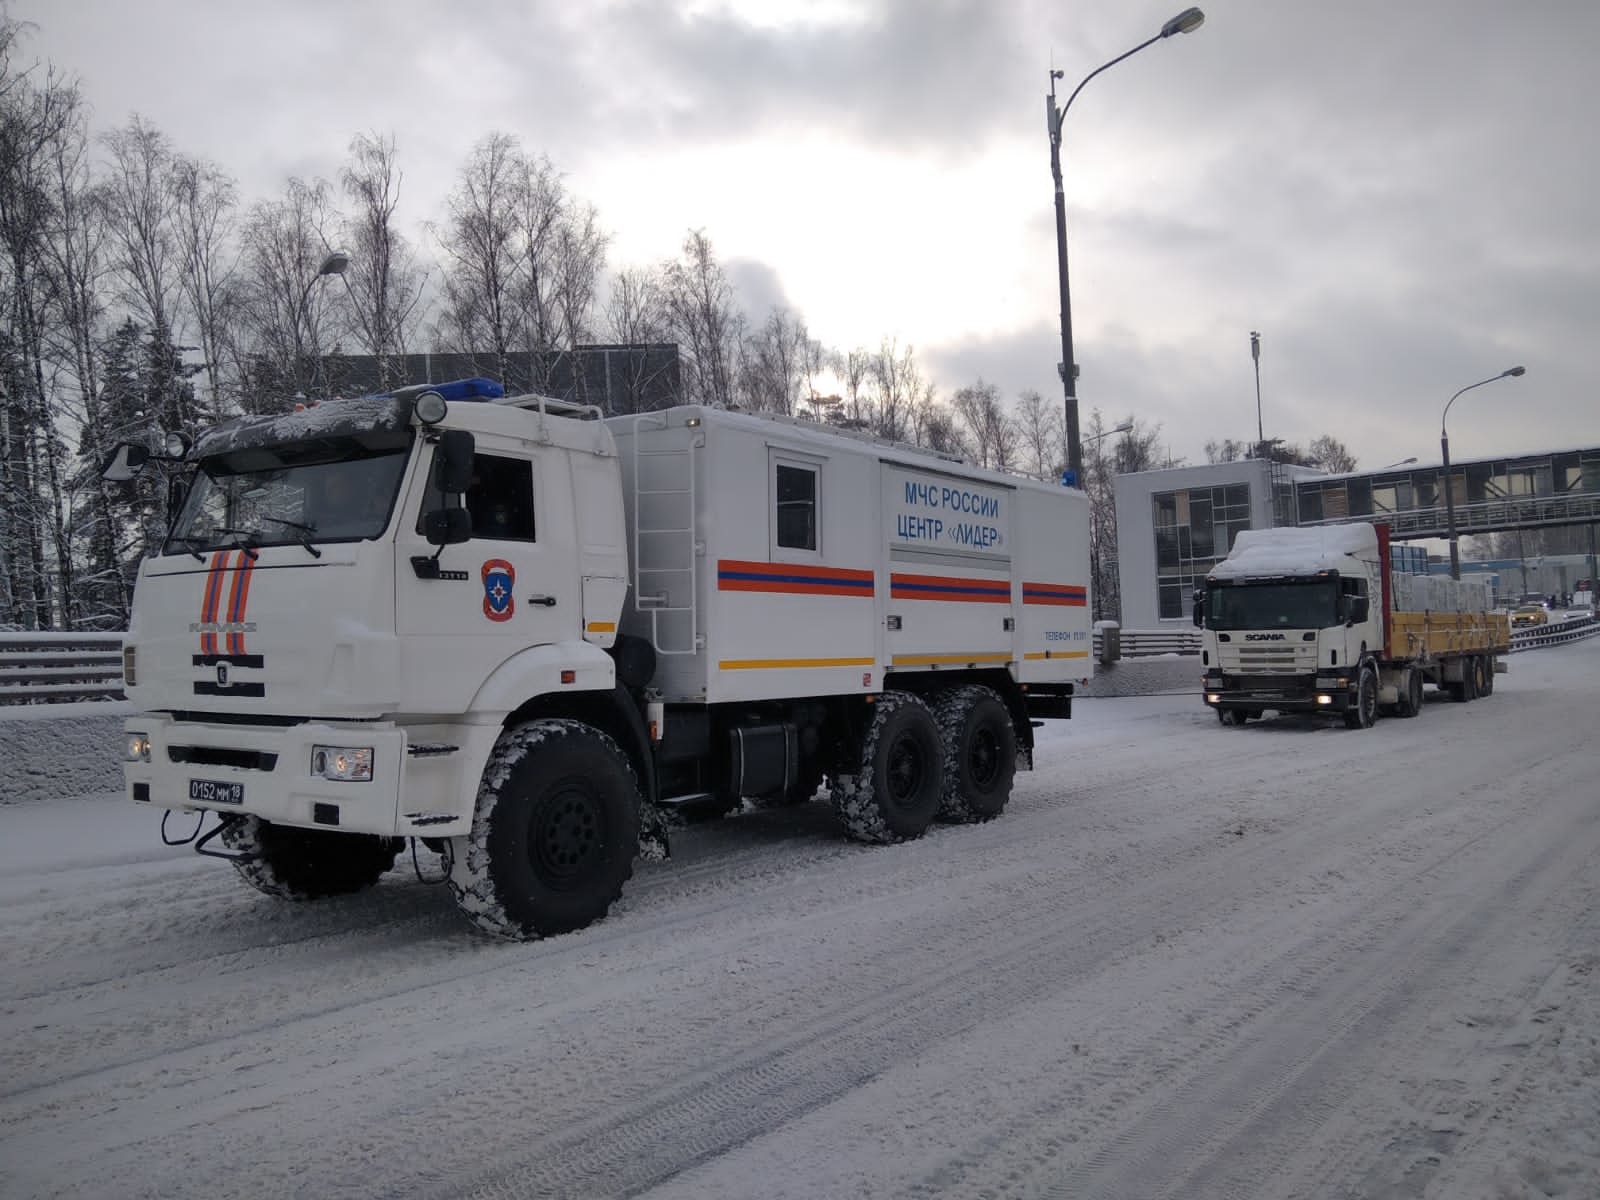
[{"label": "white Scania truck with snowy cab roof and yellow-sided loaded bed", "polygon": [[1432,683],[1488,696],[1510,650],[1485,584],[1394,571],[1386,525],[1245,530],[1195,600],[1205,702],[1224,725],[1272,709],[1365,730],[1416,717]]}]

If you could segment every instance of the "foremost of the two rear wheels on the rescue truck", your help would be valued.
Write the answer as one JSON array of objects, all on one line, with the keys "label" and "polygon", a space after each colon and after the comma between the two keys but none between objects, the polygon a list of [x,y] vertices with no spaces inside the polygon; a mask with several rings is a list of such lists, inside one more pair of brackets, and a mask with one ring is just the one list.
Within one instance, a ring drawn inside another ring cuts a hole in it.
[{"label": "foremost of the two rear wheels on the rescue truck", "polygon": [[885,691],[872,706],[854,774],[834,778],[830,800],[858,842],[922,837],[939,811],[944,752],[933,712],[907,691]]}]

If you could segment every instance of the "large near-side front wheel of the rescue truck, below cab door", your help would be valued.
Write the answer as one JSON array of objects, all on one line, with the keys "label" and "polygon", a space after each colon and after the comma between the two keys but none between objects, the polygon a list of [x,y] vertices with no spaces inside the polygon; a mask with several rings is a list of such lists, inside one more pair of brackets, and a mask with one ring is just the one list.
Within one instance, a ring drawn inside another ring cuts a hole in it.
[{"label": "large near-side front wheel of the rescue truck, below cab door", "polygon": [[643,800],[622,749],[549,718],[501,734],[472,832],[451,838],[450,891],[499,938],[570,933],[611,909],[634,874]]}]

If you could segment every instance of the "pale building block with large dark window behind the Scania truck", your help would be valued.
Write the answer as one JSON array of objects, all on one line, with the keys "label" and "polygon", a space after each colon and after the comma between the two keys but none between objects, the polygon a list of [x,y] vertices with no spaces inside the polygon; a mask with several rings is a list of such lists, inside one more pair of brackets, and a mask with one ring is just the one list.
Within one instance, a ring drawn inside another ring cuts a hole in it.
[{"label": "pale building block with large dark window behind the Scania truck", "polygon": [[1190,621],[1195,587],[1240,530],[1294,523],[1294,485],[1315,467],[1266,459],[1117,475],[1117,581],[1125,629]]}]

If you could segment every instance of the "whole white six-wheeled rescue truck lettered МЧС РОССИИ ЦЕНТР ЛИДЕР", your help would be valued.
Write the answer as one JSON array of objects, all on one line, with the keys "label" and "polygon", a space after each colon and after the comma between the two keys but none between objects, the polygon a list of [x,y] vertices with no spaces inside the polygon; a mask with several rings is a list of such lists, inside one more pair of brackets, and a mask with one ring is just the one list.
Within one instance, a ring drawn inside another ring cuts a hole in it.
[{"label": "whole white six-wheeled rescue truck lettered \u041c\u0427\u0421 \u0420\u041e\u0421\u0421\u0418\u0418 \u0426\u0415\u041d\u0422\u0420 \u041b\u0418\u0414\u0415\u0420", "polygon": [[984,821],[1091,672],[1082,493],[813,422],[461,381],[106,475],[152,458],[128,794],[280,898],[418,838],[480,928],[534,938],[605,915],[664,805],[827,781],[866,842]]}]

